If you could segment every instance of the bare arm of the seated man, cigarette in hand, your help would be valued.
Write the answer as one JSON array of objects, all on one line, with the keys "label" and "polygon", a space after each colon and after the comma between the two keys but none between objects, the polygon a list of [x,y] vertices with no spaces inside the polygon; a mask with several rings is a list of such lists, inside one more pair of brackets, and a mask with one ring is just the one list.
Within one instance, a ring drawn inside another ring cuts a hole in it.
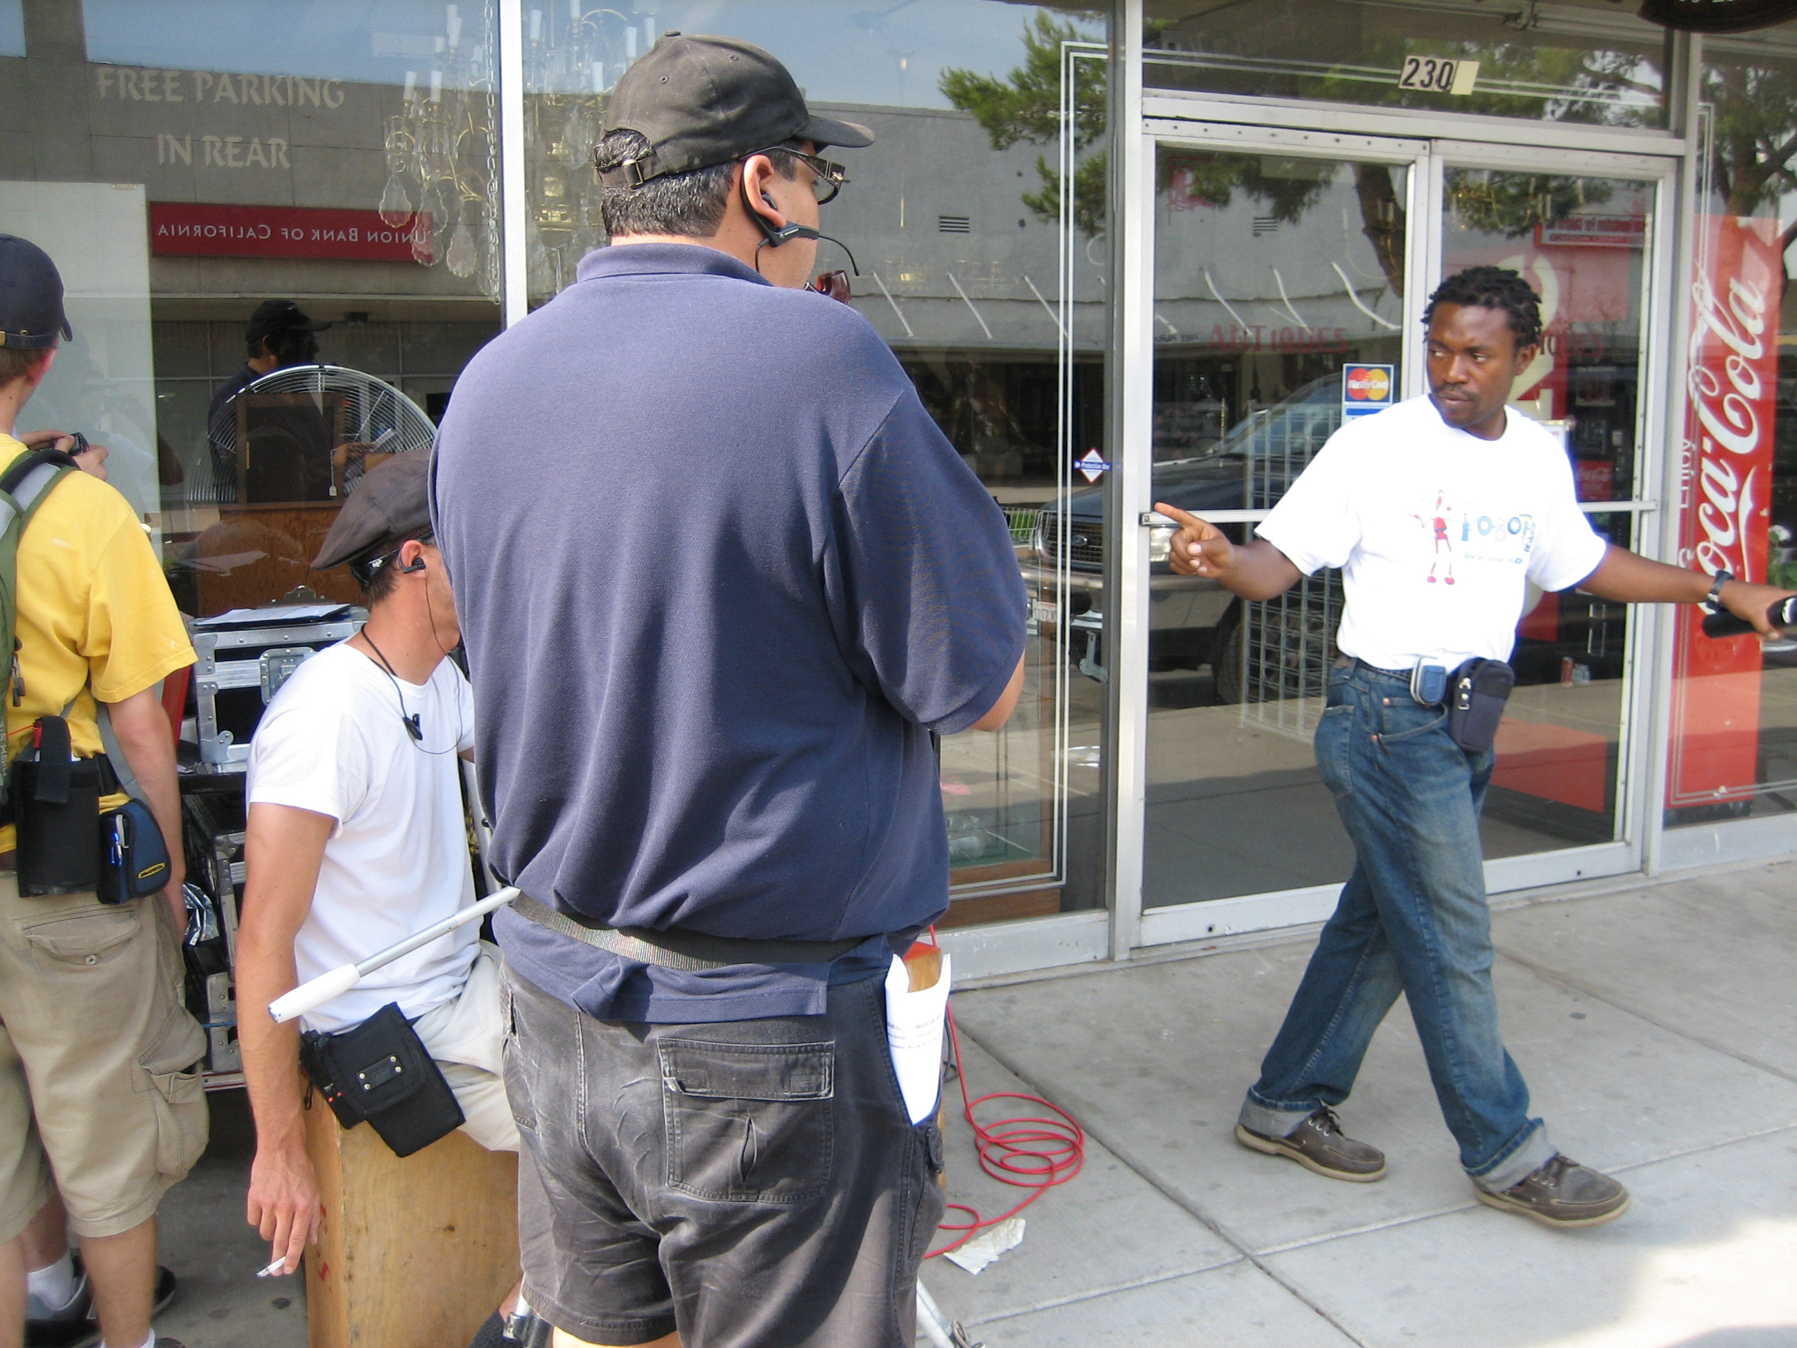
[{"label": "bare arm of the seated man, cigarette in hand", "polygon": [[246,882],[237,926],[237,1042],[255,1114],[248,1220],[271,1244],[270,1258],[298,1267],[318,1237],[318,1177],[305,1156],[300,1026],[275,1024],[268,1003],[300,978],[293,938],[313,908],[318,868],[336,820],[291,805],[250,805]]}]

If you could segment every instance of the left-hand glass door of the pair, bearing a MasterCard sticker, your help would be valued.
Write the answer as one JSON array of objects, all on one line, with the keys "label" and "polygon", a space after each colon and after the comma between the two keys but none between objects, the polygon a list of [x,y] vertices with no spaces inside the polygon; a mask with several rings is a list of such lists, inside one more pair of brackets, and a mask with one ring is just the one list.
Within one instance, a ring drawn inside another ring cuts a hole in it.
[{"label": "left-hand glass door of the pair, bearing a MasterCard sticker", "polygon": [[[1157,146],[1150,500],[1245,539],[1342,417],[1402,395],[1425,149]],[[1247,604],[1175,575],[1172,532],[1150,528],[1143,906],[1326,900],[1353,866],[1310,751],[1341,577]]]}]

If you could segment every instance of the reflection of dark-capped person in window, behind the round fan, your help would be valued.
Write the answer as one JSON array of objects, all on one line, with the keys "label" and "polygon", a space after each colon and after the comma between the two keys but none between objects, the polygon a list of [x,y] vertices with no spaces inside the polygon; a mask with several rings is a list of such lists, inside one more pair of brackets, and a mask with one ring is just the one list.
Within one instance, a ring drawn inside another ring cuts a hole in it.
[{"label": "reflection of dark-capped person in window, behind the round fan", "polygon": [[[264,374],[286,370],[293,365],[313,365],[318,359],[318,333],[331,324],[309,318],[293,300],[262,300],[250,315],[244,329],[244,345],[250,358],[243,363],[217,392],[207,408],[207,431],[212,440],[212,483],[214,500],[230,505],[237,500],[237,394],[261,379]],[[313,487],[318,478],[318,466],[311,460],[325,457],[325,476],[329,478],[331,428],[323,424],[316,410],[293,408],[288,415],[266,417],[264,433],[271,444],[261,458],[268,462],[268,473],[282,482],[252,483],[261,491],[252,491],[252,500],[313,500],[318,492]],[[307,415],[309,413],[309,415]],[[255,431],[252,430],[252,435]],[[252,457],[255,462],[255,457]],[[261,467],[261,466],[259,466]]]}]

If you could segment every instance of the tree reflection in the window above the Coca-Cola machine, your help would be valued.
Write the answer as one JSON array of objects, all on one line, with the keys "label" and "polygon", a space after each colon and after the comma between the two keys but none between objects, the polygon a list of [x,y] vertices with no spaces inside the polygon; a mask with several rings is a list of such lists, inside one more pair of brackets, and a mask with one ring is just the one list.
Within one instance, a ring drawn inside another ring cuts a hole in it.
[{"label": "tree reflection in the window above the Coca-Cola machine", "polygon": [[[1704,97],[1714,110],[1716,196],[1731,216],[1775,216],[1779,198],[1797,191],[1797,68],[1788,65],[1705,67]],[[1797,221],[1781,250],[1797,243]]]}]

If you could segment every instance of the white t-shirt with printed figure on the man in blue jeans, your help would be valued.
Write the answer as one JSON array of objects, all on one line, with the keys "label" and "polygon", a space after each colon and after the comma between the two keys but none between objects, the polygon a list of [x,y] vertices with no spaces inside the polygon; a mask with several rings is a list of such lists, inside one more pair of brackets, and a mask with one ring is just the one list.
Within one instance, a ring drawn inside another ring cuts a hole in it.
[{"label": "white t-shirt with printed figure on the man in blue jeans", "polygon": [[1378,669],[1508,660],[1527,581],[1565,590],[1605,541],[1565,449],[1515,408],[1497,440],[1412,397],[1330,437],[1256,530],[1310,575],[1341,566],[1344,654]]}]

